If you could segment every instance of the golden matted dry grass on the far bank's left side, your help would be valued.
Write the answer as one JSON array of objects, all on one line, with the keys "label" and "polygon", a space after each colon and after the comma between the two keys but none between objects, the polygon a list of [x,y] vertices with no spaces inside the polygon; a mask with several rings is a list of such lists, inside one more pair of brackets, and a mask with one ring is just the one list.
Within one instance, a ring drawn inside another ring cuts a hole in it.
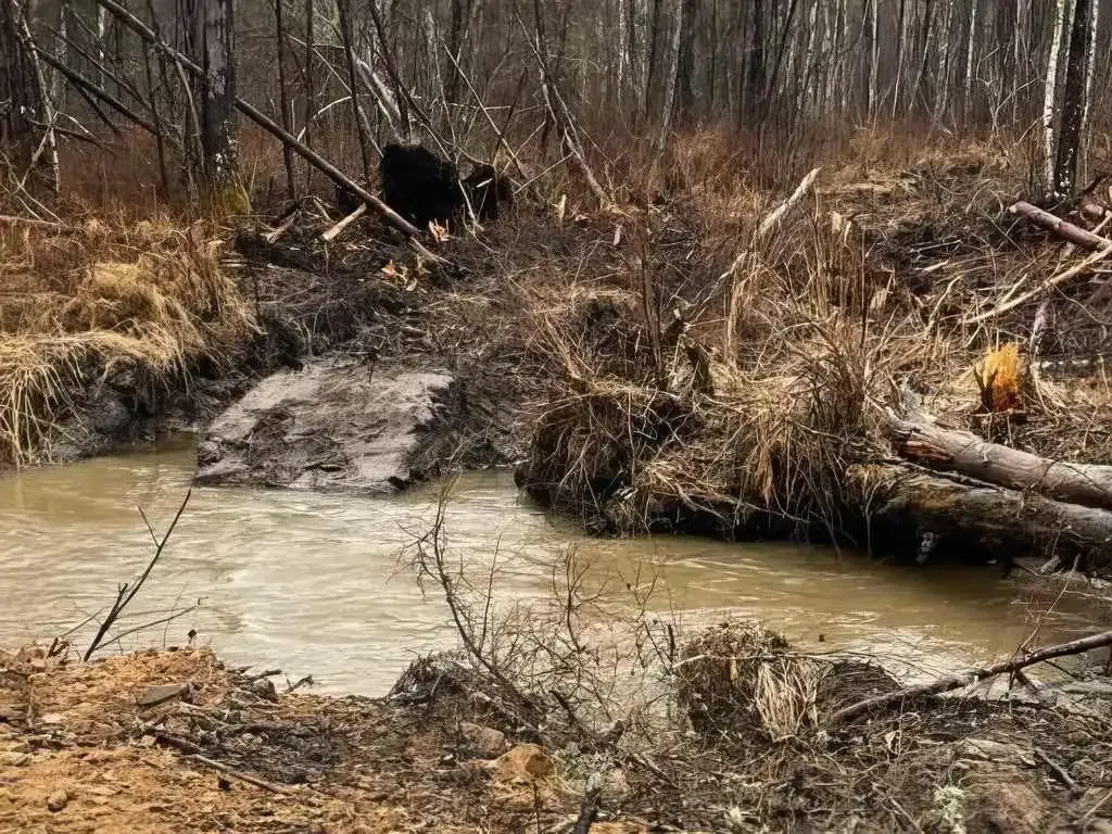
[{"label": "golden matted dry grass on the far bank's left side", "polygon": [[50,457],[86,390],[128,375],[138,403],[225,364],[255,327],[200,225],[90,219],[0,230],[0,463]]}]

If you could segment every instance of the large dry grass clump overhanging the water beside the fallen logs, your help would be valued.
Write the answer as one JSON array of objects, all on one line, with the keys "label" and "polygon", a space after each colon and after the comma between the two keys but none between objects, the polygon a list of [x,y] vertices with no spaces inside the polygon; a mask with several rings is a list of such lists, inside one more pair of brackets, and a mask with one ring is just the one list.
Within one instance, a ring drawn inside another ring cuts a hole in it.
[{"label": "large dry grass clump overhanging the water beside the fallen logs", "polygon": [[536,350],[565,393],[536,425],[525,481],[612,532],[840,528],[842,475],[877,435],[893,375],[936,359],[858,244],[804,218],[722,276],[716,254],[684,252],[703,271],[677,288],[662,276],[692,267],[657,250],[656,299],[702,295],[689,322],[665,308],[657,325],[645,314],[659,301],[633,289],[538,302]]}]

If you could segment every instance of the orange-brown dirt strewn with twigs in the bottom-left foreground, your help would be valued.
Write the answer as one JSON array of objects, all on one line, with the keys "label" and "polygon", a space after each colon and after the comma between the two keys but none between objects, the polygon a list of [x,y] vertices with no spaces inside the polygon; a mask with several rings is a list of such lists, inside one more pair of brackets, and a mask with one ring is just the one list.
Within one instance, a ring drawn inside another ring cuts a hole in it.
[{"label": "orange-brown dirt strewn with twigs in the bottom-left foreground", "polygon": [[539,747],[506,744],[494,758],[488,744],[490,758],[473,762],[427,709],[278,696],[208,651],[90,665],[44,654],[0,664],[3,832],[450,834],[552,830],[565,815]]}]

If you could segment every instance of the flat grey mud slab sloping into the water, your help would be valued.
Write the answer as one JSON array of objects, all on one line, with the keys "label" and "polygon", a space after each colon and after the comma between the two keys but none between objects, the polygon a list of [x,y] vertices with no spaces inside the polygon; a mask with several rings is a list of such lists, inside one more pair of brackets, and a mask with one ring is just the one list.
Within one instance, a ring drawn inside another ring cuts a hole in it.
[{"label": "flat grey mud slab sloping into the water", "polygon": [[414,479],[451,386],[445,373],[354,359],[279,371],[212,423],[197,481],[389,494]]}]

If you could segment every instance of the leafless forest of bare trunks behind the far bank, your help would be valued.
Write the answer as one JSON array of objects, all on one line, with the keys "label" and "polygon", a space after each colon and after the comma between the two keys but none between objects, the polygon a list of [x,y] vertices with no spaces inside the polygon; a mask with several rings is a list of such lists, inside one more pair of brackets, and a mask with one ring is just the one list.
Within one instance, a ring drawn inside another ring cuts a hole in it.
[{"label": "leafless forest of bare trunks behind the far bank", "polygon": [[910,146],[1022,148],[1033,190],[1069,192],[1110,155],[1109,0],[0,9],[9,178],[27,186],[32,160],[51,187],[87,198],[191,199],[203,178],[237,170],[254,197],[326,183],[242,107],[232,116],[236,96],[353,177],[370,179],[384,142],[419,140],[456,160],[497,158],[518,187],[582,156],[610,197],[659,186],[666,166],[648,163],[694,131],[728,137],[742,168],[780,187],[877,128]]}]

